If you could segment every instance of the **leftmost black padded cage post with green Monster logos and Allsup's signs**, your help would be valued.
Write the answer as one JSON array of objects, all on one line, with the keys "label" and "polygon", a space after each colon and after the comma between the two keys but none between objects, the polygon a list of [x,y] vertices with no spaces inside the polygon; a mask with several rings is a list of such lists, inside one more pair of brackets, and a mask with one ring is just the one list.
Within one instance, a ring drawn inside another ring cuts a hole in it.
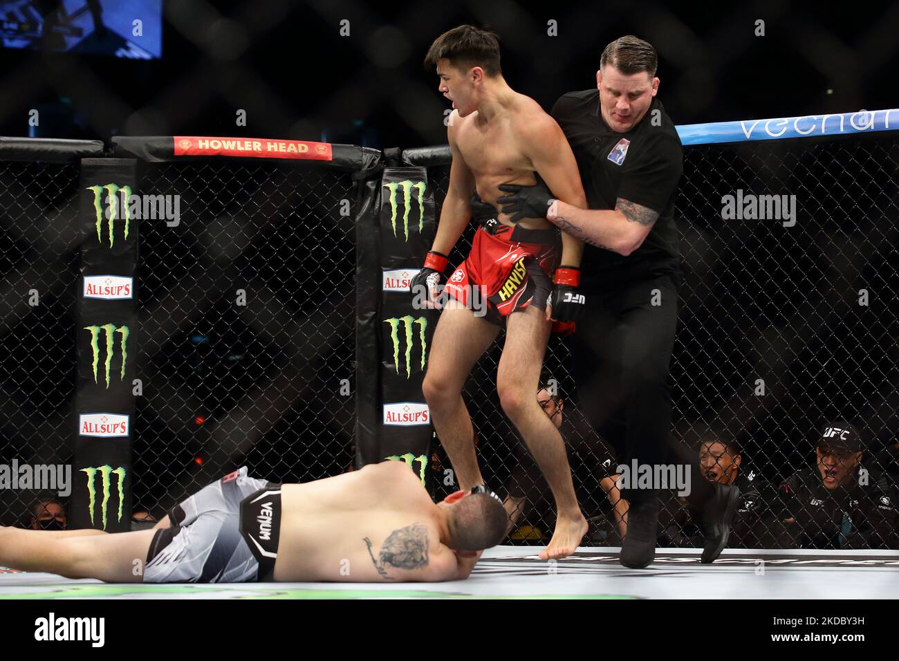
[{"label": "leftmost black padded cage post with green Monster logos and Allsup's signs", "polygon": [[136,160],[82,160],[73,528],[131,526],[138,194]]}]

